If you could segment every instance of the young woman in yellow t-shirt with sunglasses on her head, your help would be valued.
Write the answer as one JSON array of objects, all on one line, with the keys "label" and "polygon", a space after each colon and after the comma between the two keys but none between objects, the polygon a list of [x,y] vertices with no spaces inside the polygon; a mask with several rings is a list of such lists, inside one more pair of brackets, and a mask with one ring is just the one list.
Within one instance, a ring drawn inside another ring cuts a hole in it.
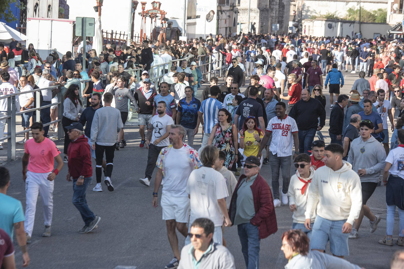
[{"label": "young woman in yellow t-shirt with sunglasses on her head", "polygon": [[[248,116],[240,133],[240,148],[243,149],[243,160],[248,156],[257,156],[264,132],[258,128],[257,118]],[[260,158],[261,168],[263,158]]]}]

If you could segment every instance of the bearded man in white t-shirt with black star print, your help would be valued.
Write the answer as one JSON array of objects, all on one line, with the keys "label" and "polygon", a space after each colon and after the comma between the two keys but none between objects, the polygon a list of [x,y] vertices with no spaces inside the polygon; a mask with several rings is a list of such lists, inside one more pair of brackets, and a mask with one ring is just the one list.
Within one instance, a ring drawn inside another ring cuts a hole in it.
[{"label": "bearded man in white t-shirt with black star print", "polygon": [[147,166],[145,171],[145,178],[139,179],[139,182],[147,187],[150,186],[151,175],[153,174],[154,167],[160,151],[170,144],[168,140],[168,132],[171,125],[174,124],[173,118],[166,114],[167,104],[164,101],[157,103],[157,113],[151,118],[150,125],[147,128],[146,145],[149,148],[147,155]]}]

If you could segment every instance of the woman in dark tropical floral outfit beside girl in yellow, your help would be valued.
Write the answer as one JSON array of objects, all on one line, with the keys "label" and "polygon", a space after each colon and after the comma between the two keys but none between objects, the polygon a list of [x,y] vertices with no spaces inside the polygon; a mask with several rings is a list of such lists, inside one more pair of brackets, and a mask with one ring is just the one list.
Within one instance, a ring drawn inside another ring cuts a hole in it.
[{"label": "woman in dark tropical floral outfit beside girl in yellow", "polygon": [[219,123],[213,126],[208,139],[208,145],[212,143],[215,147],[226,154],[226,160],[223,164],[227,169],[235,171],[236,165],[233,163],[238,160],[238,135],[237,128],[231,121],[231,115],[225,108],[221,108],[217,114]]}]

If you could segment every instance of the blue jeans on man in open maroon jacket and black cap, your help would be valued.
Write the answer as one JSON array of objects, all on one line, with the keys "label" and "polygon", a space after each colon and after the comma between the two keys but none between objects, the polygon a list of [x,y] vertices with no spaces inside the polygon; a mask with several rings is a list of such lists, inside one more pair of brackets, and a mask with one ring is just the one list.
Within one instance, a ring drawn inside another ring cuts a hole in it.
[{"label": "blue jeans on man in open maroon jacket and black cap", "polygon": [[260,242],[258,226],[249,222],[242,223],[237,225],[237,231],[247,269],[258,269]]}]

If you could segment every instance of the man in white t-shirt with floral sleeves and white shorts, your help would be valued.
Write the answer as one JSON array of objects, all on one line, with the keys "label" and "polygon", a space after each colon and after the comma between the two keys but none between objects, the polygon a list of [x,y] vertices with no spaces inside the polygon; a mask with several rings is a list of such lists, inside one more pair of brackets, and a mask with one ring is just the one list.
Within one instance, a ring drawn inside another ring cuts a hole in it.
[{"label": "man in white t-shirt with floral sleeves and white shorts", "polygon": [[174,259],[165,268],[177,268],[180,259],[178,238],[175,228],[187,237],[189,216],[189,197],[187,181],[192,170],[202,166],[196,150],[183,144],[185,129],[181,125],[171,125],[169,131],[170,145],[163,148],[158,155],[156,179],[152,205],[157,207],[158,189],[164,177],[160,205],[163,219],[166,221],[167,236],[173,250]]}]

